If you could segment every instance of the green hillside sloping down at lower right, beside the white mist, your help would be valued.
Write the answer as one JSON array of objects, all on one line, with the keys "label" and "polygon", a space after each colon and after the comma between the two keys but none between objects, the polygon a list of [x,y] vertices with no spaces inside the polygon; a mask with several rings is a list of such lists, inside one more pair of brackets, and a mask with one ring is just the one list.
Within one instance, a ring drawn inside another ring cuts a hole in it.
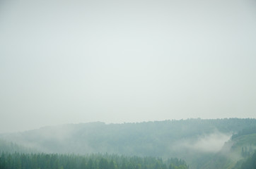
[{"label": "green hillside sloping down at lower right, beside the white mist", "polygon": [[[248,132],[248,129],[251,132]],[[233,137],[224,144],[221,151],[209,158],[204,158],[198,168],[240,169],[243,163],[255,153],[255,150],[256,127],[249,127],[241,130],[238,134],[233,134]]]}]

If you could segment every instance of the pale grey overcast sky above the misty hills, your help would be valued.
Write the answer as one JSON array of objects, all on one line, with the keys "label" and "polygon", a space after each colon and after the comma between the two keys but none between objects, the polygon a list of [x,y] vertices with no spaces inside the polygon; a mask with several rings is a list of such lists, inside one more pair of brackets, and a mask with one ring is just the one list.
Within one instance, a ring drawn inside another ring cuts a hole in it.
[{"label": "pale grey overcast sky above the misty hills", "polygon": [[255,0],[0,1],[0,133],[256,118]]}]

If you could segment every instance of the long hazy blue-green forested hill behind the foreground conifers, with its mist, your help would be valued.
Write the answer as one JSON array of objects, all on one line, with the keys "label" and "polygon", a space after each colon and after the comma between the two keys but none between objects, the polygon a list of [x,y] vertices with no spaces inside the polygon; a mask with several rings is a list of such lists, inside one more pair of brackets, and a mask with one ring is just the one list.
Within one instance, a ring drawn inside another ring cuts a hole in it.
[{"label": "long hazy blue-green forested hill behind the foreground conifers, with its mist", "polygon": [[[1,134],[45,153],[124,154],[182,158],[191,168],[221,151],[225,142],[245,129],[256,129],[255,119],[165,120],[145,123],[81,123],[42,127],[38,130]],[[255,140],[250,142],[255,144]],[[206,158],[204,160],[199,160]],[[196,167],[194,167],[196,168]]]}]

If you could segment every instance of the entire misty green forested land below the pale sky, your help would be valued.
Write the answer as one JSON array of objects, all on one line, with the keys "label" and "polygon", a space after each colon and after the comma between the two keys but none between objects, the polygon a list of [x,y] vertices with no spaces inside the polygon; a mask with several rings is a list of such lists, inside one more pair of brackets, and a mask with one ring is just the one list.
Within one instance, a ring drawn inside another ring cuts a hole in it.
[{"label": "entire misty green forested land below the pale sky", "polygon": [[101,169],[103,159],[115,169],[240,169],[255,165],[255,149],[256,120],[249,118],[81,123],[0,134],[1,168],[26,168],[19,162],[26,159],[32,168],[44,168],[39,161],[81,168],[83,161],[83,168]]}]

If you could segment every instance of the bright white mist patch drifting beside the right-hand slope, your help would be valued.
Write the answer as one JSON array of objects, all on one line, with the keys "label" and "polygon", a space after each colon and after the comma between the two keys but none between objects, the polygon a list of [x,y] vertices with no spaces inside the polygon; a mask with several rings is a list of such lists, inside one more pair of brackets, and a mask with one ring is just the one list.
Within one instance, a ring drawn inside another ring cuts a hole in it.
[{"label": "bright white mist patch drifting beside the right-hand slope", "polygon": [[214,132],[212,134],[203,135],[197,140],[185,141],[181,145],[195,151],[216,153],[221,150],[225,142],[227,142],[230,138],[231,134]]}]

